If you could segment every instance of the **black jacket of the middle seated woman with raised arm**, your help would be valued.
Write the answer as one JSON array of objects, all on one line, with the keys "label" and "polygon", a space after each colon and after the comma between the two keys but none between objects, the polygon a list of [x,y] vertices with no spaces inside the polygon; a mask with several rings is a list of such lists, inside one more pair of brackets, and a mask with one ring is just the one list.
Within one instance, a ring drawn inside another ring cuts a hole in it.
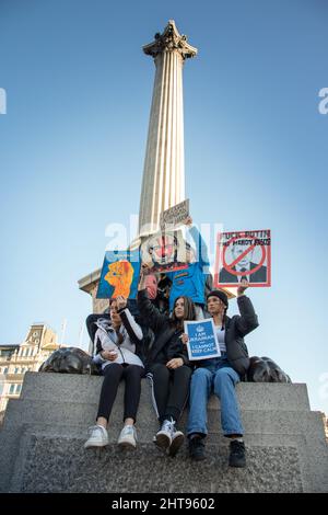
[{"label": "black jacket of the middle seated woman with raised arm", "polygon": [[176,330],[169,318],[159,311],[149,300],[145,289],[138,291],[138,307],[143,322],[154,332],[154,341],[145,359],[147,368],[154,363],[166,364],[174,357],[181,357],[185,365],[192,366],[186,345],[179,339],[184,331]]}]

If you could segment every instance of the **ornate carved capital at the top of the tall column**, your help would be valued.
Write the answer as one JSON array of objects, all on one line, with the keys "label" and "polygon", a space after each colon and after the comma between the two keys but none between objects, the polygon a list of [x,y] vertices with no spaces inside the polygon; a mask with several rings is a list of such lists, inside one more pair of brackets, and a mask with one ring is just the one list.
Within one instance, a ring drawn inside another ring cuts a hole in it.
[{"label": "ornate carved capital at the top of the tall column", "polygon": [[178,52],[183,59],[195,57],[197,48],[187,43],[187,36],[179,34],[174,20],[169,20],[163,34],[155,34],[155,41],[142,47],[144,54],[156,57],[163,52]]}]

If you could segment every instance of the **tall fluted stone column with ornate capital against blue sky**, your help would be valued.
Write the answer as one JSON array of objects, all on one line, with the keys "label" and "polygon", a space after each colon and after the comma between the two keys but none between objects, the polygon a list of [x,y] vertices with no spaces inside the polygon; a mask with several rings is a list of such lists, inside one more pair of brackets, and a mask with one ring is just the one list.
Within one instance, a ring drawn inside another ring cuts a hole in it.
[{"label": "tall fluted stone column with ornate capital against blue sky", "polygon": [[145,45],[156,73],[150,114],[139,209],[139,234],[159,228],[160,214],[185,199],[183,65],[197,49],[169,20]]}]

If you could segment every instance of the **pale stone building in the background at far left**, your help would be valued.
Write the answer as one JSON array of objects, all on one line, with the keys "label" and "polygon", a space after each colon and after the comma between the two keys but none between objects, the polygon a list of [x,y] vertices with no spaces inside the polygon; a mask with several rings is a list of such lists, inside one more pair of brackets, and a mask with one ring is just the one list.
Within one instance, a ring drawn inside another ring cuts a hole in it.
[{"label": "pale stone building in the background at far left", "polygon": [[0,422],[9,399],[20,397],[24,374],[37,371],[57,348],[57,334],[45,323],[31,325],[21,345],[0,345]]}]

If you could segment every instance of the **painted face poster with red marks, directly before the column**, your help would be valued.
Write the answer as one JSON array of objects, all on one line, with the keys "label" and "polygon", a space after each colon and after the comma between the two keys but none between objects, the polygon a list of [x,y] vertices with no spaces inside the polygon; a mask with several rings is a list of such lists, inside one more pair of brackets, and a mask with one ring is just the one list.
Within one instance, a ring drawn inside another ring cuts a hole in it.
[{"label": "painted face poster with red marks, directly before the column", "polygon": [[141,262],[151,273],[187,268],[186,242],[180,230],[156,232],[147,238],[140,249]]}]

